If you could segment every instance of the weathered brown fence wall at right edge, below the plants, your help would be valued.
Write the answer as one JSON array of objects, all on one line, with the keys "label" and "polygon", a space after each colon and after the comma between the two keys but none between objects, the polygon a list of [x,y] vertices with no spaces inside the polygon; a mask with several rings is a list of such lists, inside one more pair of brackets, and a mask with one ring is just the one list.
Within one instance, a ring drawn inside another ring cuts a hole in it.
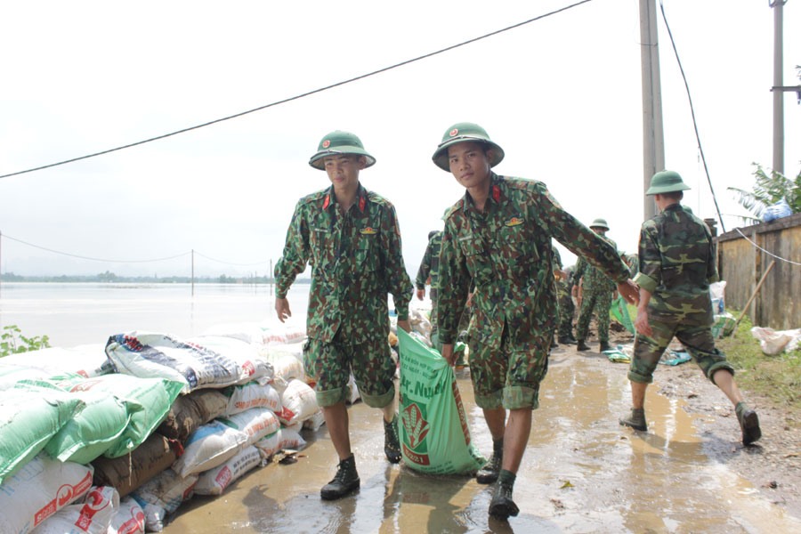
[{"label": "weathered brown fence wall at right edge, below the plants", "polygon": [[718,270],[721,279],[726,280],[726,306],[742,310],[765,271],[775,262],[748,306],[748,317],[760,327],[801,328],[801,265],[759,250],[740,232],[768,253],[801,263],[801,214],[727,231],[716,238]]}]

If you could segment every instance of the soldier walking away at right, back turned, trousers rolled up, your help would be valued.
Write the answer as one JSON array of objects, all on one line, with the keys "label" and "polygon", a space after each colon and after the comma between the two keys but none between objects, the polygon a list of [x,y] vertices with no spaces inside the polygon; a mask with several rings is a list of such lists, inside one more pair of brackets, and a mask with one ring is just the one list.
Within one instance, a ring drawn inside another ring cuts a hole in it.
[{"label": "soldier walking away at right, back turned, trousers rolled up", "polygon": [[660,213],[640,230],[640,286],[634,356],[628,379],[633,409],[620,425],[645,431],[645,390],[653,371],[674,336],[684,344],[704,375],[732,401],[740,422],[742,443],[749,445],[762,432],[756,412],[748,408],[734,382],[734,368],[715,347],[712,337],[712,301],[709,283],[718,279],[712,235],[706,223],[682,209],[684,190],[690,189],[673,171],[651,178],[645,192],[653,195]]}]

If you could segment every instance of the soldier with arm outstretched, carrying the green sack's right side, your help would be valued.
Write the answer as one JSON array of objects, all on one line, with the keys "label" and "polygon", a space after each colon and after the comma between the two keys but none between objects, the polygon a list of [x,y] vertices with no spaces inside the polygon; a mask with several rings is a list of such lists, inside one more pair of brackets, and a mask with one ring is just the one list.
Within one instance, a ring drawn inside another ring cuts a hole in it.
[{"label": "soldier with arm outstretched, carrying the green sack's right side", "polygon": [[451,126],[433,154],[433,162],[466,189],[451,206],[442,237],[437,304],[442,356],[453,365],[459,311],[473,284],[470,373],[493,439],[490,462],[476,479],[497,481],[490,514],[506,519],[518,514],[514,478],[556,328],[551,239],[609,273],[632,302],[637,293],[614,248],[565,212],[544,183],[490,170],[503,158],[498,144],[471,123]]}]

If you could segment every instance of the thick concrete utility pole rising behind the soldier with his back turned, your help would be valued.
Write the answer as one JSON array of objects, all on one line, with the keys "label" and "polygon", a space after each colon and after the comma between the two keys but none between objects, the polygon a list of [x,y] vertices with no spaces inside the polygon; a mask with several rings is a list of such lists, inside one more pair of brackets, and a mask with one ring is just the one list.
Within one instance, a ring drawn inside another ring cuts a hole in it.
[{"label": "thick concrete utility pole rising behind the soldier with his back turned", "polygon": [[[643,193],[651,176],[665,168],[665,137],[662,131],[662,96],[659,82],[659,38],[656,0],[640,0],[640,58],[643,69]],[[645,219],[656,214],[652,197],[643,194]]]}]

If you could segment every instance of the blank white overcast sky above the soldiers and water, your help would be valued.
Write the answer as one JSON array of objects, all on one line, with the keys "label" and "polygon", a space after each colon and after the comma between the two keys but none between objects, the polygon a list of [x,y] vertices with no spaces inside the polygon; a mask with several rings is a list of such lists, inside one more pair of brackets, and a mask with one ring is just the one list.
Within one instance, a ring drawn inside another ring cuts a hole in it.
[{"label": "blank white overcast sky above the soldiers and water", "polygon": [[[538,2],[6,2],[0,8],[0,174],[77,158],[254,109],[529,20]],[[659,9],[659,8],[658,8]],[[753,162],[773,161],[773,10],[767,0],[665,0],[726,230]],[[799,83],[801,2],[784,6],[784,85]],[[659,20],[666,166],[715,206],[684,81]],[[396,206],[414,277],[428,231],[462,196],[431,155],[450,125],[483,125],[499,174],[535,178],[621,250],[643,220],[637,0],[595,0],[449,53],[128,150],[0,179],[0,232],[109,260],[194,249],[196,275],[264,274],[331,130],[377,159],[361,174]],[[801,166],[801,105],[785,101],[785,174]],[[731,215],[730,215],[731,214]],[[718,225],[720,228],[720,225]],[[18,274],[189,275],[190,255],[104,263],[0,241]],[[562,248],[562,250],[564,250]],[[564,255],[565,263],[572,255]],[[232,263],[248,264],[248,266]],[[258,264],[255,264],[258,263]]]}]

